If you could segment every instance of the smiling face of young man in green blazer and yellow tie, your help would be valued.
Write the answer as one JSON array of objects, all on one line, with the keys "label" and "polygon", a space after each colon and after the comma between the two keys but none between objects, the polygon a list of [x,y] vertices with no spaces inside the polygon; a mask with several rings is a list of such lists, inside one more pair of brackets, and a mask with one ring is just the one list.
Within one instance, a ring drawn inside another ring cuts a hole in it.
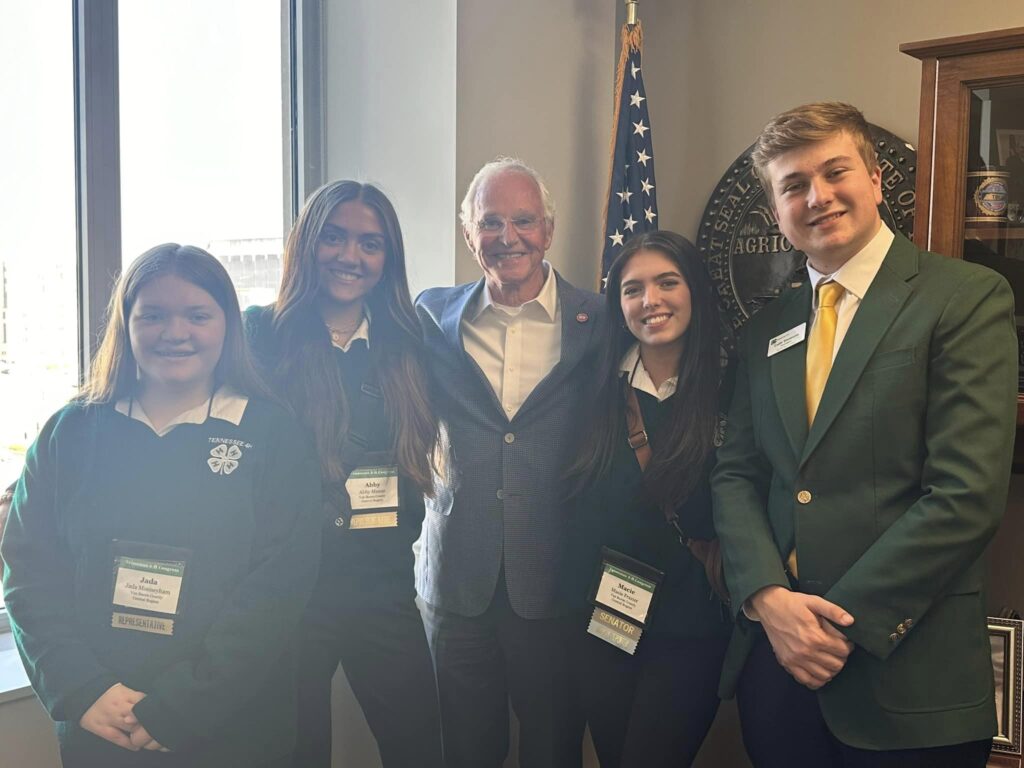
[{"label": "smiling face of young man in green blazer and yellow tie", "polygon": [[836,271],[878,233],[882,170],[867,170],[849,133],[783,153],[766,171],[779,230],[818,271]]}]

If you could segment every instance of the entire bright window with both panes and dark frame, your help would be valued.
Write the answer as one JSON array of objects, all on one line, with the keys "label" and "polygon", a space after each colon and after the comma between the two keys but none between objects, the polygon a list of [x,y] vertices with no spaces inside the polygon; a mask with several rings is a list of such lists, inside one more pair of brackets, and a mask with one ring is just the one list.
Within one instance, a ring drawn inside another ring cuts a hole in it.
[{"label": "entire bright window with both panes and dark frame", "polygon": [[122,264],[198,245],[243,307],[272,300],[323,180],[321,4],[0,4],[3,486],[73,396]]}]

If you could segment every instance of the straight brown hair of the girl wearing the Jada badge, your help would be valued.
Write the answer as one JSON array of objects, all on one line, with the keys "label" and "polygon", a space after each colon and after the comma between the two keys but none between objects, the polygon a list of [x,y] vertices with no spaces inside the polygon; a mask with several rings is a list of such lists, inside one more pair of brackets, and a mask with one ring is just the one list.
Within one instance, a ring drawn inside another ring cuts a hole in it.
[{"label": "straight brown hair of the girl wearing the Jada badge", "polygon": [[118,279],[106,307],[103,339],[77,399],[110,402],[135,391],[137,364],[128,338],[128,317],[142,287],[165,274],[202,288],[224,312],[224,347],[213,373],[215,385],[227,384],[242,394],[267,396],[249,357],[239,298],[223,264],[202,248],[165,243],[135,259]]}]

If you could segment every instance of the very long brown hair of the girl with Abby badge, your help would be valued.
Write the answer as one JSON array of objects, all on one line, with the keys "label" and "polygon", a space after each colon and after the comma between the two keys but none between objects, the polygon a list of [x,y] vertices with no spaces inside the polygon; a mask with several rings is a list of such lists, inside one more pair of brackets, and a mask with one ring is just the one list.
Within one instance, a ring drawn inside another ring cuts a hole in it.
[{"label": "very long brown hair of the girl with Abby badge", "polygon": [[324,478],[344,479],[341,449],[351,403],[345,398],[331,338],[318,311],[316,241],[335,208],[352,201],[371,208],[384,231],[384,272],[366,304],[373,316],[371,365],[394,414],[391,438],[395,460],[408,477],[430,494],[430,457],[437,442],[437,424],[430,407],[420,326],[409,296],[398,215],[376,186],[358,181],[325,184],[309,196],[299,213],[285,245],[284,274],[273,311],[273,330],[282,353],[271,378],[278,391],[312,429]]}]

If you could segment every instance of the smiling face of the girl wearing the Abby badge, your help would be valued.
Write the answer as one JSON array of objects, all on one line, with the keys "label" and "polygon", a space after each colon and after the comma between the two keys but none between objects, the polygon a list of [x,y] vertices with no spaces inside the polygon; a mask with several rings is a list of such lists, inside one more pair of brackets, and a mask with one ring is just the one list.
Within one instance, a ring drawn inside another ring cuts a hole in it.
[{"label": "smiling face of the girl wearing the Abby badge", "polygon": [[387,241],[373,208],[351,200],[338,204],[316,239],[319,299],[328,314],[362,310],[367,295],[384,273]]}]

